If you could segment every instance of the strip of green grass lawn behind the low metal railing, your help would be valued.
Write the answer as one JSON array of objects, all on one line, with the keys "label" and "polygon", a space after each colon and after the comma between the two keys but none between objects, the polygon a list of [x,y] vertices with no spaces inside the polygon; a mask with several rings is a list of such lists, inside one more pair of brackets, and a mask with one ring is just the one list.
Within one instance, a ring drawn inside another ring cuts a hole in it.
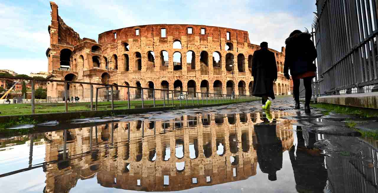
[{"label": "strip of green grass lawn behind the low metal railing", "polygon": [[[254,99],[235,99],[233,102],[242,102],[242,101],[252,101],[252,100],[259,100],[258,98]],[[219,103],[230,103],[231,100],[221,100],[219,99]],[[128,109],[127,101],[114,101],[114,109]],[[163,100],[156,100],[156,107],[163,107],[164,101]],[[172,106],[172,100],[165,101],[166,107]],[[197,105],[197,98],[193,100],[194,105]],[[215,99],[211,100],[208,98],[206,100],[198,100],[198,103],[201,105],[203,104],[218,104],[218,100]],[[95,104],[95,101],[93,101]],[[144,108],[153,107],[153,100],[144,100]],[[181,100],[181,105],[186,106],[186,100]],[[187,105],[192,105],[192,99],[187,100]],[[174,106],[180,106],[180,101],[175,98]],[[142,108],[142,101],[130,101],[130,108]],[[97,104],[98,110],[110,110],[112,109],[110,101],[98,102]],[[36,104],[35,111],[37,114],[39,113],[56,113],[56,112],[65,112],[64,103],[48,103],[48,104]],[[90,103],[68,103],[68,111],[90,111]],[[28,115],[31,114],[31,104],[0,104],[0,115]]]}]

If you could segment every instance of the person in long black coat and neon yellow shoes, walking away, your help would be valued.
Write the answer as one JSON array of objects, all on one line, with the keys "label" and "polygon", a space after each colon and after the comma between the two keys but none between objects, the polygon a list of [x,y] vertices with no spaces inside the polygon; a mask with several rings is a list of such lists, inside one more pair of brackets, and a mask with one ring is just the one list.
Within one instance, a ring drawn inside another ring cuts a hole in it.
[{"label": "person in long black coat and neon yellow shoes, walking away", "polygon": [[273,82],[277,80],[276,57],[268,50],[268,43],[261,42],[261,49],[256,50],[252,60],[253,92],[255,97],[262,97],[262,108],[269,109],[274,100]]}]

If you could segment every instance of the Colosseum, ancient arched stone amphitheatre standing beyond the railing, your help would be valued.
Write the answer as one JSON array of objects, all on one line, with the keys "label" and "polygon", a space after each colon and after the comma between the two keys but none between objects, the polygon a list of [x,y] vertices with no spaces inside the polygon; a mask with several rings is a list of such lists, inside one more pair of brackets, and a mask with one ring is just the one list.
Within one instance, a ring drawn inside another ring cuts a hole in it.
[{"label": "Colosseum, ancient arched stone amphitheatre standing beyond the railing", "polygon": [[[205,25],[141,25],[105,31],[96,42],[81,39],[59,17],[58,6],[50,5],[48,79],[222,94],[252,92],[253,53],[260,47],[249,42],[247,31]],[[290,91],[290,82],[283,76],[285,48],[270,50],[276,55],[278,70],[274,91],[285,95]],[[70,96],[89,97],[90,85],[71,84],[68,89]],[[152,96],[144,92],[144,98]],[[62,98],[62,93],[64,84],[48,85],[48,97]],[[127,99],[127,89],[120,87],[118,93],[120,100]],[[155,96],[162,97],[163,92],[156,91]],[[140,98],[141,89],[130,91],[130,97]]]}]

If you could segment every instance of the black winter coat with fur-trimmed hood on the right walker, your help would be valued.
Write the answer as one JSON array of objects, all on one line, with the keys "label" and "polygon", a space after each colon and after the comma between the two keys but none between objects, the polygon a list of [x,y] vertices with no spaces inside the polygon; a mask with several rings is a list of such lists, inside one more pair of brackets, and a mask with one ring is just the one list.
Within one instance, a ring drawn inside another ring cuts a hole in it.
[{"label": "black winter coat with fur-trimmed hood on the right walker", "polygon": [[313,61],[317,57],[316,48],[312,42],[311,34],[300,33],[286,39],[285,64],[283,73],[299,75],[309,71],[316,71]]}]

